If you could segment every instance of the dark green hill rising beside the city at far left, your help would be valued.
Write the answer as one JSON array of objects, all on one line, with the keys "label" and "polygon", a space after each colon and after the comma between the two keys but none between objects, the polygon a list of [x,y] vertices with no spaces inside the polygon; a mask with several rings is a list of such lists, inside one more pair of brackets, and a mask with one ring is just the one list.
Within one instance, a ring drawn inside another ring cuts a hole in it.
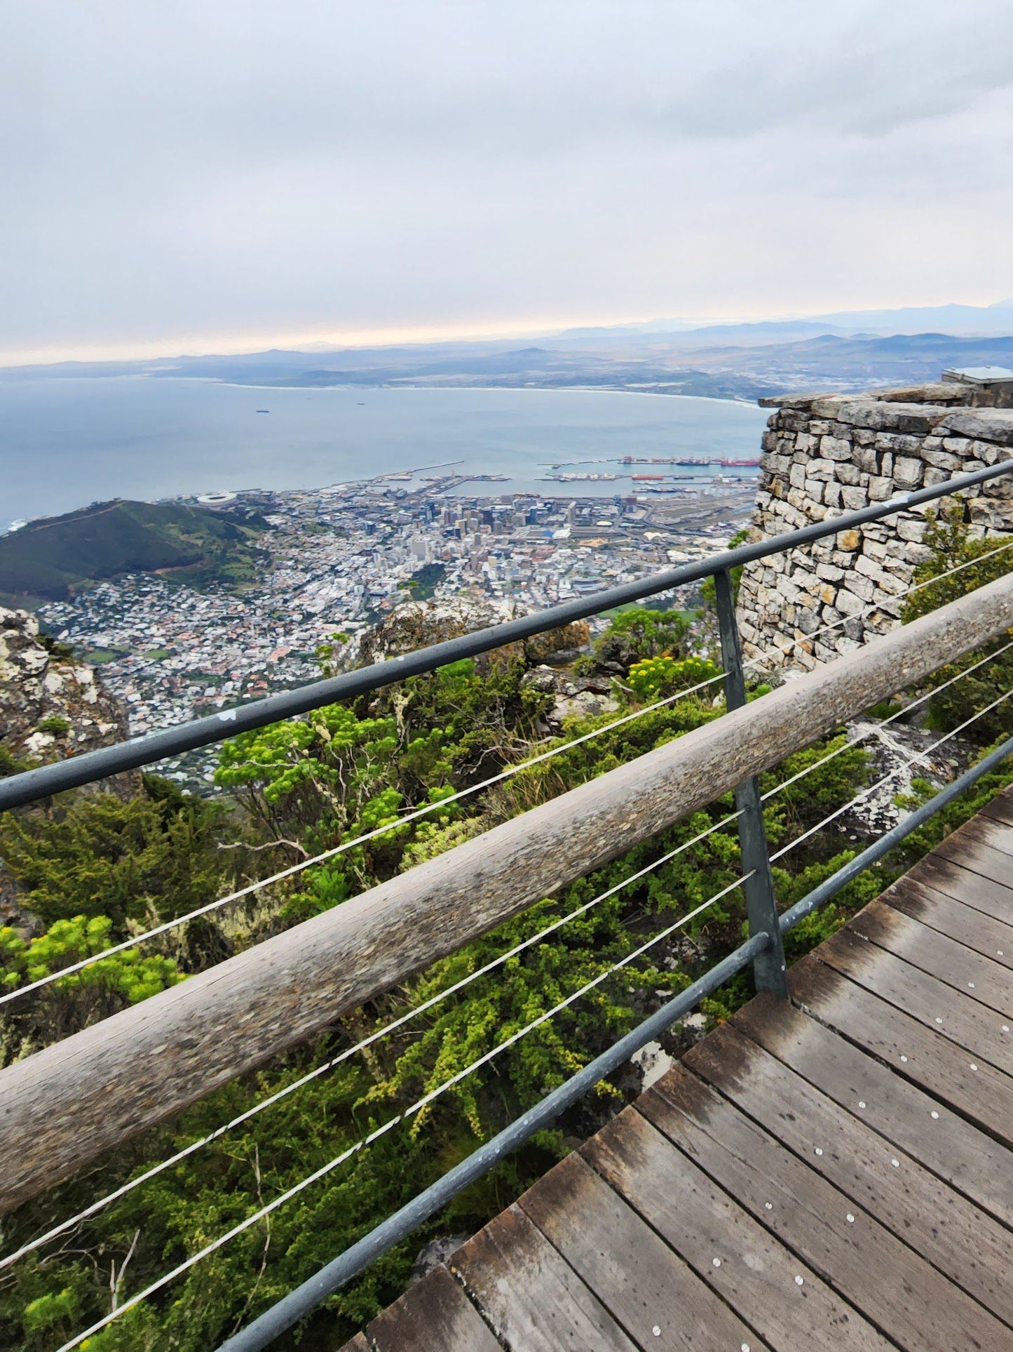
[{"label": "dark green hill rising beside the city at far left", "polygon": [[0,603],[63,600],[85,583],[135,572],[239,584],[255,575],[265,529],[255,514],[120,499],[46,516],[0,538]]}]

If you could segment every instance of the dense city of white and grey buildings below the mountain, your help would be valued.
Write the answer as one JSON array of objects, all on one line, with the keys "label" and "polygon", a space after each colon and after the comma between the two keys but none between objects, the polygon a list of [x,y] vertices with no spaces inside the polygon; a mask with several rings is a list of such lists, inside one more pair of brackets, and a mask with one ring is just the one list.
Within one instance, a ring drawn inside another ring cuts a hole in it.
[{"label": "dense city of white and grey buildings below the mountain", "polygon": [[[101,664],[136,735],[312,680],[320,645],[342,635],[348,660],[365,630],[409,600],[474,599],[504,615],[525,612],[700,557],[744,522],[755,484],[701,477],[678,499],[473,498],[448,487],[461,485],[388,476],[247,492],[243,506],[270,527],[257,584],[199,592],[130,575],[39,615]],[[215,504],[232,503],[222,495]]]}]

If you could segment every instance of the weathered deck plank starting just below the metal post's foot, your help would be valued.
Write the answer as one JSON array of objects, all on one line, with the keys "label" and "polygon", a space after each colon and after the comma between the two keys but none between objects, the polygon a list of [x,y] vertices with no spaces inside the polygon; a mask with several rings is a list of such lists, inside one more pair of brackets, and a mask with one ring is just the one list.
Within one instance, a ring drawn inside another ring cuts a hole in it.
[{"label": "weathered deck plank starting just below the metal post's foot", "polygon": [[909,1155],[1004,1225],[1013,1225],[1013,1156],[1005,1146],[948,1110],[947,1130],[928,1130],[937,1125],[931,1118],[940,1111],[936,1099],[777,996],[755,996],[732,1022],[893,1141],[895,1168],[904,1169],[901,1156]]}]

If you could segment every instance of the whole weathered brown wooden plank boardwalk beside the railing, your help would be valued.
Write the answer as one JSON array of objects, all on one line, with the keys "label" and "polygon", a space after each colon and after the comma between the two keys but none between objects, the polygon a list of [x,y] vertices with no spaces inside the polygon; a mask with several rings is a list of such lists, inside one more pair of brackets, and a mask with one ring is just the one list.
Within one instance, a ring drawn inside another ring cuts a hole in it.
[{"label": "whole weathered brown wooden plank boardwalk beside the railing", "polygon": [[1013,792],[346,1352],[1013,1349]]}]

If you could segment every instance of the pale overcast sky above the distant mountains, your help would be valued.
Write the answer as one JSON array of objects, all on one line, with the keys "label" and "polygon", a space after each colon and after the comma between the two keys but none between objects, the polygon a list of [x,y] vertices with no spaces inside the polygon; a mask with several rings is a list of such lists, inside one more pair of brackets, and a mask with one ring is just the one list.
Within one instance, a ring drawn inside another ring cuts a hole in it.
[{"label": "pale overcast sky above the distant mountains", "polygon": [[0,361],[1013,295],[1008,0],[0,0]]}]

